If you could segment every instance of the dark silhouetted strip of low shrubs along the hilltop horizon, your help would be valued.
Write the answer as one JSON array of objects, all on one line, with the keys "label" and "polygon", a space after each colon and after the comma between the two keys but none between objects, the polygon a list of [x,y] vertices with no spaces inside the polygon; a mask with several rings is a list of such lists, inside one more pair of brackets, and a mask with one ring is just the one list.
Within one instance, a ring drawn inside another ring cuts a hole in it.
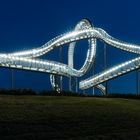
[{"label": "dark silhouetted strip of low shrubs along the hilltop horizon", "polygon": [[140,99],[140,95],[128,93],[108,93],[102,94],[88,94],[88,93],[75,93],[69,91],[62,91],[58,93],[53,90],[44,90],[36,92],[32,89],[0,89],[0,95],[40,95],[40,96],[78,96],[78,97],[101,97],[101,98],[126,98],[126,99]]}]

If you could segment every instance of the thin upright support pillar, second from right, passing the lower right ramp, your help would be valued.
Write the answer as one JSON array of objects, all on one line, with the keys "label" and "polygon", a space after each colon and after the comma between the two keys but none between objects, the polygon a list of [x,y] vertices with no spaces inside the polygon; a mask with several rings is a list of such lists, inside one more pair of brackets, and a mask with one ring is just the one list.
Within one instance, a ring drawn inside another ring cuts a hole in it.
[{"label": "thin upright support pillar, second from right, passing the lower right ramp", "polygon": [[[104,70],[106,70],[107,69],[107,46],[106,46],[106,44],[104,43]],[[107,81],[105,82],[105,88],[106,88],[106,90],[105,90],[105,95],[107,95],[108,94],[108,89],[107,89]]]}]

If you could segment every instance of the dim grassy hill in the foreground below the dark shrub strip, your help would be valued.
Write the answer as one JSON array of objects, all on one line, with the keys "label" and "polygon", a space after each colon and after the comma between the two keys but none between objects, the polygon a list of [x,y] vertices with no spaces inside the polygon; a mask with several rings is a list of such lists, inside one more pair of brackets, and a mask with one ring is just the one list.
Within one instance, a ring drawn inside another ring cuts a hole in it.
[{"label": "dim grassy hill in the foreground below the dark shrub strip", "polygon": [[140,100],[0,95],[0,139],[140,139]]}]

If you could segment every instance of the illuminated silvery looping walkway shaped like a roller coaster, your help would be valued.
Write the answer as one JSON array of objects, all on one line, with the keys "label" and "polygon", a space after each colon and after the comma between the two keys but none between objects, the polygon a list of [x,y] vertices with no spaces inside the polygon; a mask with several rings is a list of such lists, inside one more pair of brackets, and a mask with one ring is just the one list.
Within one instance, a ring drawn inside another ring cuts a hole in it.
[{"label": "illuminated silvery looping walkway shaped like a roller coaster", "polygon": [[[87,39],[89,44],[86,59],[83,66],[77,70],[73,67],[74,49],[76,42],[84,39]],[[92,26],[89,20],[83,19],[76,25],[73,31],[57,36],[39,48],[14,53],[0,53],[0,66],[50,73],[52,87],[60,92],[61,89],[56,82],[55,75],[81,77],[86,74],[95,62],[97,40],[127,52],[140,54],[140,46],[117,40],[107,34],[103,29]],[[45,55],[58,47],[62,47],[64,44],[69,44],[68,65],[56,61],[39,59],[39,56]],[[136,57],[80,81],[79,88],[88,89],[96,87],[104,94],[106,89],[102,85],[103,82],[138,69],[139,67],[140,57]]]}]

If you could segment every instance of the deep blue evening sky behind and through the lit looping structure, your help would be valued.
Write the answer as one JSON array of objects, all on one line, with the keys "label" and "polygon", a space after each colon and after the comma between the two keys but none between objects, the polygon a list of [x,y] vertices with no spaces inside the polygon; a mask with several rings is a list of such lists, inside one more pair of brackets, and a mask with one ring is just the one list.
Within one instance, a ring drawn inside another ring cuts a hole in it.
[{"label": "deep blue evening sky behind and through the lit looping structure", "polygon": [[[90,19],[94,26],[103,28],[113,37],[140,44],[139,6],[139,0],[1,0],[0,51],[13,52],[41,46],[73,29],[82,18]],[[98,43],[97,47],[96,63],[103,65],[103,44]],[[64,63],[67,63],[67,48],[64,46],[63,49]],[[86,50],[86,41],[77,44],[76,68],[82,66]],[[45,58],[57,60],[58,51],[50,52]],[[110,46],[107,55],[108,67],[135,57]],[[98,65],[96,71],[100,69]],[[51,89],[48,74],[18,70],[14,74],[17,88]],[[10,88],[10,77],[10,70],[0,70],[1,88]],[[111,80],[109,92],[135,92],[135,72]]]}]

